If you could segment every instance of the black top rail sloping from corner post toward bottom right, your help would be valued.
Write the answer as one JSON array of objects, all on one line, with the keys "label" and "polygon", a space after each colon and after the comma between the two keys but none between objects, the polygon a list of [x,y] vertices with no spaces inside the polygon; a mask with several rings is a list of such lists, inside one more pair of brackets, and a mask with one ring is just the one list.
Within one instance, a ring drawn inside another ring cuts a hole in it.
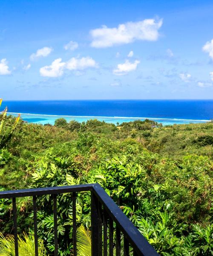
[{"label": "black top rail sloping from corner post toward bottom right", "polygon": [[130,244],[136,250],[137,255],[159,256],[152,245],[149,244],[144,236],[141,235],[139,230],[98,183],[93,185],[93,190],[99,201],[101,201],[101,204],[107,210],[109,216],[113,219],[113,221],[115,221],[124,236],[126,236],[130,241]]}]

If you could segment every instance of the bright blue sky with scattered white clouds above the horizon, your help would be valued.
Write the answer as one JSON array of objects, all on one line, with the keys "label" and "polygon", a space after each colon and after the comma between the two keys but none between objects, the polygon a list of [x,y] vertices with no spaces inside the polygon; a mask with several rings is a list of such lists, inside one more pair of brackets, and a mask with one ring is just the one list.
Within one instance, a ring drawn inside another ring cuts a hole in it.
[{"label": "bright blue sky with scattered white clouds above the horizon", "polygon": [[0,1],[0,97],[212,99],[213,1]]}]

